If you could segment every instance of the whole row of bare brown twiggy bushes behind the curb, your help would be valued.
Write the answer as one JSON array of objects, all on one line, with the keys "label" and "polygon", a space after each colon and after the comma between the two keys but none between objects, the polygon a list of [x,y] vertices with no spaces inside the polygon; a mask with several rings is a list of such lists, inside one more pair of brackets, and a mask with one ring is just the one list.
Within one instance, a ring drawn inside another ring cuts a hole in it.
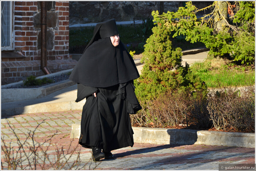
[{"label": "whole row of bare brown twiggy bushes behind the curb", "polygon": [[255,132],[255,90],[219,88],[192,96],[190,92],[167,91],[154,100],[145,100],[142,110],[131,115],[133,126]]}]

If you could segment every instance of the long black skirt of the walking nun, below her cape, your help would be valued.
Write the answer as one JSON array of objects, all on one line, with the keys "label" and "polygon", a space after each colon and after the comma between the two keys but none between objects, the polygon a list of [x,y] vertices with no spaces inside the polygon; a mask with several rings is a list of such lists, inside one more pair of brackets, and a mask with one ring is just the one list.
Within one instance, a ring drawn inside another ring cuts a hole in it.
[{"label": "long black skirt of the walking nun, below her cape", "polygon": [[119,85],[98,88],[97,97],[90,95],[82,111],[79,144],[111,151],[133,146],[133,130],[127,103],[118,98]]}]

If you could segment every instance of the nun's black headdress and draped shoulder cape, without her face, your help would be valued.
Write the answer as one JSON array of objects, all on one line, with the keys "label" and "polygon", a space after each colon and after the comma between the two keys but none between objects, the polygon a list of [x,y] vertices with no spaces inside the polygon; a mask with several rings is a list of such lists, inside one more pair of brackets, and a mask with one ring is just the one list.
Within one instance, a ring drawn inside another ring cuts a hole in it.
[{"label": "nun's black headdress and draped shoulder cape, without her face", "polygon": [[115,19],[98,23],[69,79],[90,87],[109,87],[139,78],[124,44],[114,47],[110,36],[118,34]]}]

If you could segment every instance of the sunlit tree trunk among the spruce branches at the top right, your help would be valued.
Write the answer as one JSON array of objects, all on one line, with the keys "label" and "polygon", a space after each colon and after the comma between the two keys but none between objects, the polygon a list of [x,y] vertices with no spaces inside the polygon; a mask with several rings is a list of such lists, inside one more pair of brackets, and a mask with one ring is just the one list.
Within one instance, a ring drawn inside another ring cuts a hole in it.
[{"label": "sunlit tree trunk among the spruce branches at the top right", "polygon": [[227,26],[227,3],[225,1],[215,1],[214,15],[215,31],[219,33]]}]

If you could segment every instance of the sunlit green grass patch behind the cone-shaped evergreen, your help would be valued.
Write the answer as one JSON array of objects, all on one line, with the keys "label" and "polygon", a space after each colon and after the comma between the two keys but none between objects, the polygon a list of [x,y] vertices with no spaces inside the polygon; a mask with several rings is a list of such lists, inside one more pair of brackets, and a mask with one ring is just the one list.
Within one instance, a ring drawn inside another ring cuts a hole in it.
[{"label": "sunlit green grass patch behind the cone-shaped evergreen", "polygon": [[206,59],[191,65],[195,72],[211,88],[254,85],[255,69],[252,66],[235,65],[223,59]]}]

